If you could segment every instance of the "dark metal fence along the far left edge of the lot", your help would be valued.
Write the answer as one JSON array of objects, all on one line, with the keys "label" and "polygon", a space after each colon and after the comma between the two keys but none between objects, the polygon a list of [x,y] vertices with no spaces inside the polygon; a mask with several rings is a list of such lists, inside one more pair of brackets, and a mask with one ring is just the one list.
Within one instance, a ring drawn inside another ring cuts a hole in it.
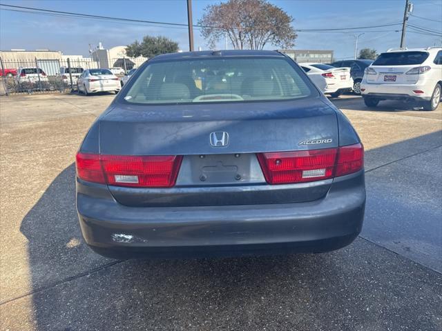
[{"label": "dark metal fence along the far left edge of the lot", "polygon": [[[99,68],[99,63],[92,59],[3,61],[0,57],[0,64],[0,84],[5,94],[71,92],[77,90],[77,79],[81,72]],[[123,68],[122,72],[128,70]],[[122,72],[117,76],[122,77]]]}]

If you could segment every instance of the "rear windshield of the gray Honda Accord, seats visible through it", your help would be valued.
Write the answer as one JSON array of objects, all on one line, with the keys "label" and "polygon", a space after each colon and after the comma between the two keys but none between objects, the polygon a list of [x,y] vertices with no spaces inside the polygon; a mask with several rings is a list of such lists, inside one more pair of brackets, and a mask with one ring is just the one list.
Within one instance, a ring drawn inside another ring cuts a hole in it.
[{"label": "rear windshield of the gray Honda Accord, seats visible through it", "polygon": [[313,91],[285,59],[198,59],[149,64],[124,99],[133,103],[283,100],[307,97]]}]

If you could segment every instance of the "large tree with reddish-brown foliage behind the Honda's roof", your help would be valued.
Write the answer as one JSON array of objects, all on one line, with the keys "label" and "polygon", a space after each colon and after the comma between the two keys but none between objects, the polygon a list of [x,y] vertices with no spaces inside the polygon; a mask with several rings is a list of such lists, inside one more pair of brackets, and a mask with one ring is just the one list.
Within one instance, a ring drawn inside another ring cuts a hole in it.
[{"label": "large tree with reddish-brown foliage behind the Honda's roof", "polygon": [[291,48],[298,37],[291,26],[293,18],[267,0],[228,0],[204,11],[198,25],[211,48],[224,36],[236,50],[262,50],[267,44]]}]

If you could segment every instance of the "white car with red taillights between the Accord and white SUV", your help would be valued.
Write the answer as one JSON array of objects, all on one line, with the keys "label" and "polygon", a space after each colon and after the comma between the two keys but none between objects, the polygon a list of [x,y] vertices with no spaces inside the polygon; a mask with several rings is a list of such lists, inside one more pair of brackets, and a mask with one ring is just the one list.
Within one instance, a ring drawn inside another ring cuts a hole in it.
[{"label": "white car with red taillights between the Accord and white SUV", "polygon": [[334,68],[323,63],[300,63],[300,67],[324,94],[337,98],[352,90],[349,68]]}]

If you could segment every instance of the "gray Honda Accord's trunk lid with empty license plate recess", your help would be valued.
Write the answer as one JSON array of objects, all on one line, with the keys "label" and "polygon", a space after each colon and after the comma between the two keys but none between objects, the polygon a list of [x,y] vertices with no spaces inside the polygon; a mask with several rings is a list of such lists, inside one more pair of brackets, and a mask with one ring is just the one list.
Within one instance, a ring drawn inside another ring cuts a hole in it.
[{"label": "gray Honda Accord's trunk lid with empty license plate recess", "polygon": [[[169,106],[118,103],[99,126],[100,154],[183,156],[173,188],[109,186],[119,203],[135,206],[320,199],[331,179],[269,185],[256,153],[338,146],[336,113],[320,98]],[[213,132],[227,132],[225,146],[213,146]]]}]

